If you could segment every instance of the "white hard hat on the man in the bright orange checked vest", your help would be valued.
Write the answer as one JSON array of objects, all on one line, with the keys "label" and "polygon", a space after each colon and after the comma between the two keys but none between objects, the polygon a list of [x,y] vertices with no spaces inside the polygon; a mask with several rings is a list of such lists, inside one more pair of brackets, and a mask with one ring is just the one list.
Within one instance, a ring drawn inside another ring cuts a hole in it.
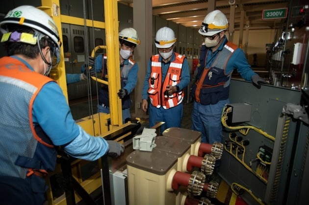
[{"label": "white hard hat on the man in the bright orange checked vest", "polygon": [[157,48],[171,47],[176,42],[175,33],[169,27],[162,27],[156,32],[154,42]]}]

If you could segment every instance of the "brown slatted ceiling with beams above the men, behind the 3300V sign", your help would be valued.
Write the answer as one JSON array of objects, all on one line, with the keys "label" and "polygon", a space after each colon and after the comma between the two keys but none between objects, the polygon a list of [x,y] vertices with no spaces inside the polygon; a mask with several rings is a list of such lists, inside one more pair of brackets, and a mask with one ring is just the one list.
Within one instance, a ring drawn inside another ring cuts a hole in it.
[{"label": "brown slatted ceiling with beams above the men, behind the 3300V sign", "polygon": [[[118,0],[129,6],[134,0]],[[162,19],[180,23],[185,27],[198,28],[204,20],[208,0],[153,0],[153,15]],[[288,0],[215,0],[216,9],[221,10],[230,20],[231,2],[235,5],[234,29],[239,29],[241,15],[244,26],[249,29],[269,29],[282,26],[282,19],[262,20],[264,9],[288,7]],[[243,11],[243,12],[241,12]]]}]

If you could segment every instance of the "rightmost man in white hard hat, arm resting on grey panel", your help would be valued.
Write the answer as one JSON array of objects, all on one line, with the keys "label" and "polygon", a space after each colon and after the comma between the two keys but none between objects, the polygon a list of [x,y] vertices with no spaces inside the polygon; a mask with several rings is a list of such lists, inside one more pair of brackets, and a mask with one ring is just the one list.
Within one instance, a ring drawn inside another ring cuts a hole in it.
[{"label": "rightmost man in white hard hat, arm resting on grey panel", "polygon": [[229,103],[229,89],[232,72],[260,88],[267,82],[255,73],[244,52],[225,36],[229,23],[219,10],[208,13],[199,33],[204,36],[200,62],[195,72],[192,95],[195,99],[192,112],[192,129],[202,133],[202,142],[222,141],[221,114]]}]

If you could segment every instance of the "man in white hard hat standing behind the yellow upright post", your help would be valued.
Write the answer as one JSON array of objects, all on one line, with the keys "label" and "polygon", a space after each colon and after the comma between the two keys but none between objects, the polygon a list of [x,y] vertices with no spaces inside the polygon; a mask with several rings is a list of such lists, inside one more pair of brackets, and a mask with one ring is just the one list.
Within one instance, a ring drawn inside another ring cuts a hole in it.
[{"label": "man in white hard hat standing behind the yellow upright post", "polygon": [[[118,96],[122,99],[122,119],[123,123],[130,118],[130,106],[132,104],[129,94],[133,91],[137,83],[138,65],[131,58],[136,45],[140,45],[137,32],[134,28],[124,28],[119,32],[119,54],[120,54],[120,73],[121,73],[121,89]],[[98,55],[95,60],[89,57],[89,66],[92,66],[96,72],[102,71],[101,78],[108,81],[107,74],[107,55]],[[85,70],[85,65],[81,68]],[[91,69],[90,69],[91,70]],[[102,85],[99,91],[98,112],[109,114],[109,96],[108,86]]]}]

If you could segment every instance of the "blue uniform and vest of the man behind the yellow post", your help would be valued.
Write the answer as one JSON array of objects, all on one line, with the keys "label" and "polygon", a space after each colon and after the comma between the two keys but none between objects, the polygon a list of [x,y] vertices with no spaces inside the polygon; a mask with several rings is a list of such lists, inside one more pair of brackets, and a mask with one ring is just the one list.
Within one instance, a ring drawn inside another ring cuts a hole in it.
[{"label": "blue uniform and vest of the man behind the yellow post", "polygon": [[[103,73],[102,79],[107,81],[108,74],[107,74],[107,57],[105,54],[98,55],[95,59],[95,65],[93,68],[96,72]],[[81,71],[84,71],[84,66],[81,68]],[[126,89],[128,91],[128,95],[126,95],[122,99],[122,119],[123,123],[128,117],[131,117],[130,114],[130,106],[131,106],[131,99],[129,94],[133,91],[134,87],[137,83],[137,72],[138,72],[138,65],[132,59],[126,59],[120,65],[120,72],[121,72],[121,89]],[[98,105],[98,112],[100,113],[110,113],[109,109],[109,94],[108,94],[108,87],[107,85],[102,85],[102,88],[99,91],[99,105]]]}]

